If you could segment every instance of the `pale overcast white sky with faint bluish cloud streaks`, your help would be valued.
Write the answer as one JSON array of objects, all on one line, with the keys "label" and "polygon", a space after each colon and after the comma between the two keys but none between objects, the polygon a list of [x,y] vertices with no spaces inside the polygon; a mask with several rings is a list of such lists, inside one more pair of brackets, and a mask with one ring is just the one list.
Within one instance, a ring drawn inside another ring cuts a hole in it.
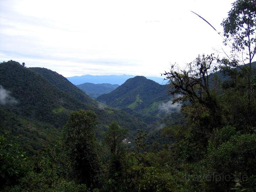
[{"label": "pale overcast white sky with faint bluish cloud streaks", "polygon": [[[0,62],[75,75],[160,76],[222,48],[234,0],[0,0]],[[220,51],[221,52],[221,51]]]}]

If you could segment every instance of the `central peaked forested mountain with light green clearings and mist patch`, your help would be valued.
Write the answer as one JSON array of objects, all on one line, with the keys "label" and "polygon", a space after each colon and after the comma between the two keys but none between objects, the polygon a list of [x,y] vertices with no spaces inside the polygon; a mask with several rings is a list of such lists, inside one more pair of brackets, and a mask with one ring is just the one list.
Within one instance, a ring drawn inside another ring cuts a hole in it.
[{"label": "central peaked forested mountain with light green clearings and mist patch", "polygon": [[96,98],[108,106],[121,108],[147,123],[152,123],[165,113],[175,111],[168,85],[160,85],[144,76],[128,79],[117,89]]}]

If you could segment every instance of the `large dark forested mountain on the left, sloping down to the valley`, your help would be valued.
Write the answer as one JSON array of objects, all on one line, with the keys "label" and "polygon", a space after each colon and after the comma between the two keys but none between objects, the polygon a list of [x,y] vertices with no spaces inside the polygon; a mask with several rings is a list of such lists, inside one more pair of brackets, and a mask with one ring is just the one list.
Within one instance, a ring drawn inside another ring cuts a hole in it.
[{"label": "large dark forested mountain on the left, sloping down to the valley", "polygon": [[0,133],[20,137],[26,151],[49,145],[61,134],[70,112],[92,110],[97,114],[97,138],[112,121],[128,129],[133,138],[147,124],[125,111],[102,105],[84,94],[62,75],[44,68],[25,68],[10,60],[0,63]]}]

